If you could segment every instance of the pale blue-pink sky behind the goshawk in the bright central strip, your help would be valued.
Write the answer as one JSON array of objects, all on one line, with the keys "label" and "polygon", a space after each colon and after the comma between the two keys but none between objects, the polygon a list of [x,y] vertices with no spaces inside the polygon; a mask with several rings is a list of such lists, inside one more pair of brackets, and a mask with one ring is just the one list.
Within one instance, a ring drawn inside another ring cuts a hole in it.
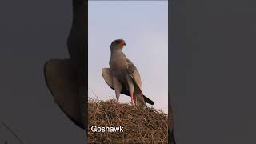
[{"label": "pale blue-pink sky behind the goshawk in the bright central strip", "polygon": [[[123,38],[123,52],[138,68],[143,94],[168,111],[168,5],[160,2],[89,2],[88,86],[99,99],[116,98],[102,78],[109,67],[110,43]],[[91,97],[94,97],[89,90]],[[130,97],[120,96],[121,102]]]}]

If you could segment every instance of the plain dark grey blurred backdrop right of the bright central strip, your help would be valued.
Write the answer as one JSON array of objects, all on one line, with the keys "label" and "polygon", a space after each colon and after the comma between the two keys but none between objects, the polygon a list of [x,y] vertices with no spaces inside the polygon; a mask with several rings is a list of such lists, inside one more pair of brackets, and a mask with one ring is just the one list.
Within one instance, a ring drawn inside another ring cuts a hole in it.
[{"label": "plain dark grey blurred backdrop right of the bright central strip", "polygon": [[178,144],[254,144],[256,1],[170,4],[170,88]]}]

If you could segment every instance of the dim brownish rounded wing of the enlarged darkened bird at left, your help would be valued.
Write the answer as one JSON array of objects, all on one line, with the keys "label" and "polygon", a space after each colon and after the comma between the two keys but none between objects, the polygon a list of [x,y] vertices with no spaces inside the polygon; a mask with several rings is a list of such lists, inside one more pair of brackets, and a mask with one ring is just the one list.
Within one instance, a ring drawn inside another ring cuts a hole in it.
[{"label": "dim brownish rounded wing of the enlarged darkened bird at left", "polygon": [[54,102],[72,122],[84,128],[78,102],[77,78],[69,59],[49,60],[44,66],[44,75]]}]

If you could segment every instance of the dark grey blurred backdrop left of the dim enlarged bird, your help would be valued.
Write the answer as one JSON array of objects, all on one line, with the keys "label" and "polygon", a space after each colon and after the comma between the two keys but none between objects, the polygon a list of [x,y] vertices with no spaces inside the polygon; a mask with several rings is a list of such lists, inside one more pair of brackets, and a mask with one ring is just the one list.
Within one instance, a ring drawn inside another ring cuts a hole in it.
[{"label": "dark grey blurred backdrop left of the dim enlarged bird", "polygon": [[[72,1],[1,1],[0,18],[0,121],[24,144],[85,143],[84,131],[54,103],[43,76],[47,60],[68,57]],[[0,143],[15,144],[9,134],[0,126]]]}]

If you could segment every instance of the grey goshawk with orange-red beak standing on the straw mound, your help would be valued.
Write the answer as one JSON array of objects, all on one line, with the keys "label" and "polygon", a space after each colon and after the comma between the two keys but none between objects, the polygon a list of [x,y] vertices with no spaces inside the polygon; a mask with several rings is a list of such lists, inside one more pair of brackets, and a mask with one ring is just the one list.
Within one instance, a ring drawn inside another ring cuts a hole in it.
[{"label": "grey goshawk with orange-red beak standing on the straw mound", "polygon": [[132,104],[146,106],[146,102],[154,105],[150,98],[142,93],[142,81],[140,74],[126,55],[122,52],[126,42],[123,39],[114,40],[110,45],[110,68],[102,69],[102,76],[111,89],[115,91],[117,101],[120,94],[131,97]]}]

